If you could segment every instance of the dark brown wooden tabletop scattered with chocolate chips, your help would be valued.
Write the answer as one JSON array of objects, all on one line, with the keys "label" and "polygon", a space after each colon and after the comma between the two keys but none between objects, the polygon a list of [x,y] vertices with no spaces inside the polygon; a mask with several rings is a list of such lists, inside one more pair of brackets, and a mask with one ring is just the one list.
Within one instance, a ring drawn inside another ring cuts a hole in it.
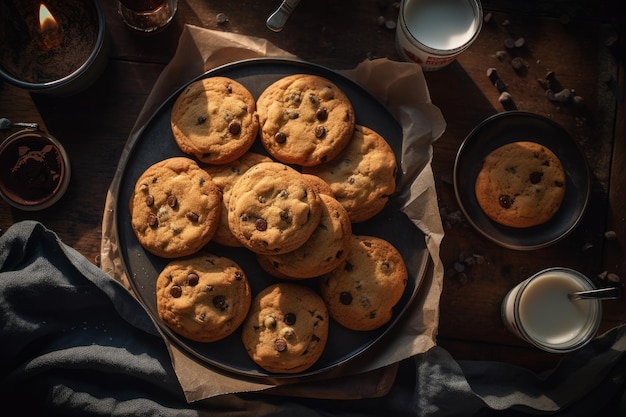
[{"label": "dark brown wooden tabletop scattered with chocolate chips", "polygon": [[[624,38],[611,2],[590,12],[573,3],[529,13],[518,2],[485,1],[491,20],[478,40],[456,62],[425,73],[433,103],[444,114],[447,130],[434,145],[433,170],[446,236],[441,258],[446,266],[438,343],[457,359],[498,360],[535,370],[554,365],[558,355],[541,352],[509,334],[500,319],[506,292],[530,274],[561,265],[593,279],[603,272],[626,279],[626,111]],[[279,1],[211,2],[179,0],[175,21],[160,33],[142,35],[127,29],[114,2],[103,2],[111,39],[110,62],[88,90],[72,97],[31,95],[0,84],[0,116],[39,122],[65,145],[72,162],[72,181],[64,198],[41,212],[22,212],[0,201],[0,228],[35,219],[92,262],[98,262],[101,219],[107,189],[122,148],[146,97],[173,56],[184,23],[268,39],[304,60],[347,69],[368,58],[398,60],[394,31],[379,23],[395,21],[391,1],[303,1],[280,33],[265,27]],[[227,22],[218,23],[224,13]],[[584,17],[583,18],[581,18]],[[608,16],[608,17],[606,17]],[[508,37],[524,37],[522,48],[506,50]],[[621,42],[621,43],[620,43]],[[620,49],[621,48],[621,49]],[[516,72],[512,57],[525,70]],[[621,63],[621,65],[618,65]],[[476,232],[463,218],[454,194],[452,172],[459,145],[474,126],[504,111],[499,92],[486,76],[496,68],[519,110],[547,116],[580,144],[591,168],[592,198],[580,226],[565,240],[535,251],[506,249]],[[541,83],[553,71],[565,88],[584,98],[586,108],[553,103]],[[6,136],[6,132],[3,133]],[[606,231],[615,231],[608,240]],[[485,262],[464,263],[468,255]],[[456,264],[456,265],[455,265]],[[461,269],[463,269],[461,271]],[[626,323],[626,300],[604,303],[602,330]]]}]

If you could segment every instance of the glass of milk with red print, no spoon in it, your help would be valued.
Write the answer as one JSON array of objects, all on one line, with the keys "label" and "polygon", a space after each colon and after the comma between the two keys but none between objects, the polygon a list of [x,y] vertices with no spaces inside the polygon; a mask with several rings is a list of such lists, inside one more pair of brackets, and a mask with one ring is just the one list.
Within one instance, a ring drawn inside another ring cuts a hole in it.
[{"label": "glass of milk with red print, no spoon in it", "polygon": [[402,0],[396,46],[424,71],[440,69],[474,42],[482,27],[479,0]]}]

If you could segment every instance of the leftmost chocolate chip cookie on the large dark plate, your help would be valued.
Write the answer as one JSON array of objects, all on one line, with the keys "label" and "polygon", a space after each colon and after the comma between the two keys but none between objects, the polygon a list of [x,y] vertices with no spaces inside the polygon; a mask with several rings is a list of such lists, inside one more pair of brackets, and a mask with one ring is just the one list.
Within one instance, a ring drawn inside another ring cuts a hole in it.
[{"label": "leftmost chocolate chip cookie on the large dark plate", "polygon": [[191,255],[219,226],[222,193],[211,176],[186,157],[148,167],[135,183],[129,209],[137,240],[163,258]]}]

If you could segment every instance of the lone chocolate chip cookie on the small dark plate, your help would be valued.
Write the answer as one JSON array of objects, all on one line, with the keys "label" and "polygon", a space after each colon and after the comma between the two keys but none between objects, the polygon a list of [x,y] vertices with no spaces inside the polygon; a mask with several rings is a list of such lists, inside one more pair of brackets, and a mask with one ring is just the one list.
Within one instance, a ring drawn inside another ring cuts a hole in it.
[{"label": "lone chocolate chip cookie on the small dark plate", "polygon": [[476,178],[476,200],[499,224],[538,226],[561,207],[565,183],[565,170],[550,149],[531,141],[512,142],[485,157]]}]

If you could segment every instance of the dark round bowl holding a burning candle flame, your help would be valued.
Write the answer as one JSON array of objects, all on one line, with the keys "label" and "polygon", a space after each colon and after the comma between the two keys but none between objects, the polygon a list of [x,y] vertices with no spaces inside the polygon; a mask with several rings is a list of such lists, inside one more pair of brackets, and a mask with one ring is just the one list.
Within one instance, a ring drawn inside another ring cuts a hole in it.
[{"label": "dark round bowl holding a burning candle flame", "polygon": [[30,91],[68,95],[108,62],[101,0],[0,0],[0,78]]}]

